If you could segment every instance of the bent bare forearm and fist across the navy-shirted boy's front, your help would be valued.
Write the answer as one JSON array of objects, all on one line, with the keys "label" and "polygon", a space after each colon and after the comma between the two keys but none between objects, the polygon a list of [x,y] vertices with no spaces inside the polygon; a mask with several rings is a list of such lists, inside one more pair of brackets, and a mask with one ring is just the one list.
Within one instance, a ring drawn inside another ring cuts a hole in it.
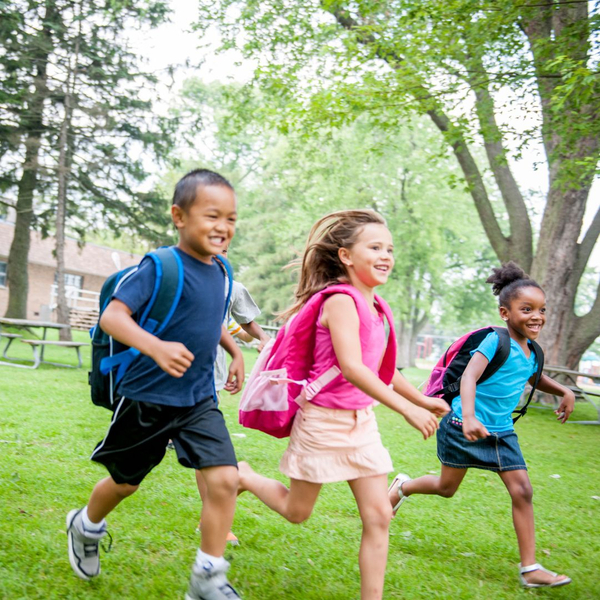
[{"label": "bent bare forearm and fist across the navy-shirted boy's front", "polygon": [[100,327],[115,340],[149,356],[172,377],[183,377],[194,355],[180,342],[165,342],[142,329],[131,310],[120,300],[112,300],[100,317]]}]

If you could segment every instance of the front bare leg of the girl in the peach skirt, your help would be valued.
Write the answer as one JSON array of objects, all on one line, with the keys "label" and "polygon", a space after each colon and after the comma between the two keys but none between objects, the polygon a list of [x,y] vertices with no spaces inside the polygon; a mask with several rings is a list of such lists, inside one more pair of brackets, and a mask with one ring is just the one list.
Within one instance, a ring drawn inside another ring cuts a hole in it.
[{"label": "front bare leg of the girl in the peach skirt", "polygon": [[349,481],[363,524],[358,564],[361,600],[380,600],[388,556],[392,510],[387,498],[387,477],[363,477]]}]

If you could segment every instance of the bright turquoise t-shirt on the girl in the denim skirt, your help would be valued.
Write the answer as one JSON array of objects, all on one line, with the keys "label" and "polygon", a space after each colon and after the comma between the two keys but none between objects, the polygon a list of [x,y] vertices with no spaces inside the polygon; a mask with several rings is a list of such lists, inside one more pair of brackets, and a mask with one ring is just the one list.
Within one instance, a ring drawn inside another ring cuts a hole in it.
[{"label": "bright turquoise t-shirt on the girl in the denim skirt", "polygon": [[[479,346],[471,351],[481,352],[488,361],[498,348],[498,334],[489,333]],[[475,416],[491,432],[512,431],[512,412],[515,410],[530,377],[537,372],[537,359],[530,347],[529,358],[515,340],[510,340],[510,354],[506,362],[475,389]],[[452,410],[462,419],[460,396],[452,401]]]}]

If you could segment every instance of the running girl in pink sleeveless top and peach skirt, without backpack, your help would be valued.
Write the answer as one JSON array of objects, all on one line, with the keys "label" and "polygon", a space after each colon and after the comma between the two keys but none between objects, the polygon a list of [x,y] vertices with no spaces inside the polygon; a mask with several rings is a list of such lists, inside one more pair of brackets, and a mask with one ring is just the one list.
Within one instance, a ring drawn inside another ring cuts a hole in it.
[{"label": "running girl in pink sleeveless top and peach skirt, without backpack", "polygon": [[430,411],[442,415],[448,410],[443,400],[424,396],[398,371],[392,379],[393,389],[377,375],[386,334],[374,290],[388,280],[393,266],[392,236],[376,212],[341,211],[314,225],[302,259],[296,303],[284,317],[295,315],[311,296],[329,285],[349,283],[364,296],[372,315],[368,349],[361,351],[360,320],[353,298],[338,293],[326,299],[316,323],[311,377],[330,366],[333,357],[341,375],[307,402],[294,419],[280,465],[290,477],[290,488],[259,475],[245,462],[239,463],[240,492],[252,492],[292,523],[308,519],[323,483],[348,482],[363,525],[359,553],[363,600],[382,597],[392,517],[387,497],[392,462],[381,443],[373,402],[400,413],[425,439],[438,426]]}]

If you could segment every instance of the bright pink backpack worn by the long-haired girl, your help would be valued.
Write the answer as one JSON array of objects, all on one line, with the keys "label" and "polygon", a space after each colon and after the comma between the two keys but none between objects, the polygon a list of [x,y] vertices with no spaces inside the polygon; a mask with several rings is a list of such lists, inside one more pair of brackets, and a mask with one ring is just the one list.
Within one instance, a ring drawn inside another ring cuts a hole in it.
[{"label": "bright pink backpack worn by the long-haired girl", "polygon": [[[347,284],[332,285],[321,290],[279,330],[277,337],[260,353],[242,392],[239,407],[241,425],[277,438],[287,437],[298,409],[341,376],[337,361],[334,360],[316,379],[307,379],[313,366],[317,319],[323,302],[333,294],[348,294],[354,299],[360,319],[360,342],[364,349],[372,326],[364,296]],[[387,347],[379,368],[379,377],[387,385],[396,370],[394,319],[385,300],[377,295],[375,299],[389,323]]]}]

